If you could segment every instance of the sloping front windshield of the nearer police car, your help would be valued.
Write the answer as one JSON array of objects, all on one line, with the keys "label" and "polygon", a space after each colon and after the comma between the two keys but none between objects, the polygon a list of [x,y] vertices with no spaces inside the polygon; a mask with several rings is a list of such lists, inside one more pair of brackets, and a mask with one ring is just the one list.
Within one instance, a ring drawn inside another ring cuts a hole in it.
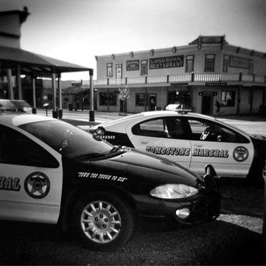
[{"label": "sloping front windshield of the nearer police car", "polygon": [[107,155],[113,145],[96,140],[90,133],[63,121],[39,121],[20,126],[62,155],[71,159],[82,155]]}]

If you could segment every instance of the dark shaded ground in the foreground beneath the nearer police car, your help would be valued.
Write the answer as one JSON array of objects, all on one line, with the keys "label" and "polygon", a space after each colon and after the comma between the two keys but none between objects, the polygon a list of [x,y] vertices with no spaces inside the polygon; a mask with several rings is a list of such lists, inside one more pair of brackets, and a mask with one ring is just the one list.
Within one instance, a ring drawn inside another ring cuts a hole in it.
[{"label": "dark shaded ground in the foreground beneath the nearer police car", "polygon": [[1,265],[265,265],[262,235],[223,221],[188,228],[143,223],[125,247],[84,248],[57,226],[1,222]]}]

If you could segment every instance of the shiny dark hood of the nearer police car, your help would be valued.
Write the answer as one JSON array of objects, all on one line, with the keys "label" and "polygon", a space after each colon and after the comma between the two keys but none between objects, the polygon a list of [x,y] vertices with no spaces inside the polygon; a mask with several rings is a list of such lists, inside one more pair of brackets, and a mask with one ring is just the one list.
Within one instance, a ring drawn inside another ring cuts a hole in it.
[{"label": "shiny dark hood of the nearer police car", "polygon": [[201,177],[183,165],[132,148],[128,148],[126,153],[110,157],[108,160],[99,160],[96,163],[101,165],[101,169],[104,167],[119,169],[120,174],[134,177],[136,181],[141,178],[147,182],[182,183],[196,187],[201,180]]}]

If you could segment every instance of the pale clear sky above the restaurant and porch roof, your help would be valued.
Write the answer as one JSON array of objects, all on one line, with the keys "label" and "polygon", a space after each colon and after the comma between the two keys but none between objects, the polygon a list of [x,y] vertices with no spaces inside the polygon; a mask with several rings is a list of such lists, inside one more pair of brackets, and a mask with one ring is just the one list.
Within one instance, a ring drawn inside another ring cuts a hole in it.
[{"label": "pale clear sky above the restaurant and porch roof", "polygon": [[[265,0],[0,0],[28,7],[21,48],[94,69],[95,55],[172,48],[199,35],[266,52]],[[62,79],[89,79],[87,72]]]}]

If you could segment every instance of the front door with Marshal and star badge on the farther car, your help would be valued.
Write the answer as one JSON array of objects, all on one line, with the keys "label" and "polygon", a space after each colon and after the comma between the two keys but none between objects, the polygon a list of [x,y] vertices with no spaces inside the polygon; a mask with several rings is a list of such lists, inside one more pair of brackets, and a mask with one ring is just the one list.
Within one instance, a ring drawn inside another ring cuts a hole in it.
[{"label": "front door with Marshal and star badge on the farther car", "polygon": [[201,118],[187,121],[191,128],[192,170],[204,175],[204,166],[211,164],[220,176],[246,177],[253,160],[253,144],[248,136]]}]

